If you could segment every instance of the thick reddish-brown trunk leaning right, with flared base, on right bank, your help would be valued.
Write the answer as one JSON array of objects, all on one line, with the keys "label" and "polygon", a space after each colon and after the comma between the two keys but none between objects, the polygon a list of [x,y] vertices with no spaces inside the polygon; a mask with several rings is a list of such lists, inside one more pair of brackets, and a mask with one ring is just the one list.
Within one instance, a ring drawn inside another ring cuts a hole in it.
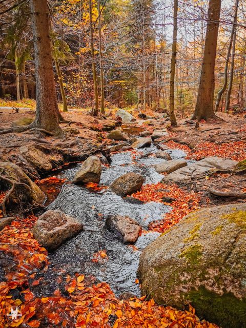
[{"label": "thick reddish-brown trunk leaning right, with flared base, on right bank", "polygon": [[219,30],[221,0],[210,0],[208,10],[208,23],[204,45],[202,68],[195,111],[192,119],[208,119],[215,117],[213,111],[214,98],[214,67],[216,47]]}]

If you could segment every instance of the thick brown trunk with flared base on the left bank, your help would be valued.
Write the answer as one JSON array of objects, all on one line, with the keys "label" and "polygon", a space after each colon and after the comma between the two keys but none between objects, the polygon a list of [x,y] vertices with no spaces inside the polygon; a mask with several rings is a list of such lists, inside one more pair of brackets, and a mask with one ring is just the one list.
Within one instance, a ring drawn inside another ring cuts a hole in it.
[{"label": "thick brown trunk with flared base on the left bank", "polygon": [[36,75],[36,118],[32,127],[61,133],[52,67],[51,15],[47,0],[30,0]]}]

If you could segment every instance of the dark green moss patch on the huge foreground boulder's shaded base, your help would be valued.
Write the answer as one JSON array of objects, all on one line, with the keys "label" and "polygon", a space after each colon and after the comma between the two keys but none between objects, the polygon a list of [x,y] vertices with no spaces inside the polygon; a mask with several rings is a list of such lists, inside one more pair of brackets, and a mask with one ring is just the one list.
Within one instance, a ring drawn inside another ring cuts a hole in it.
[{"label": "dark green moss patch on the huge foreground boulder's shaded base", "polygon": [[196,309],[196,315],[223,328],[242,328],[246,322],[246,299],[232,293],[222,296],[208,291],[204,286],[184,295]]}]

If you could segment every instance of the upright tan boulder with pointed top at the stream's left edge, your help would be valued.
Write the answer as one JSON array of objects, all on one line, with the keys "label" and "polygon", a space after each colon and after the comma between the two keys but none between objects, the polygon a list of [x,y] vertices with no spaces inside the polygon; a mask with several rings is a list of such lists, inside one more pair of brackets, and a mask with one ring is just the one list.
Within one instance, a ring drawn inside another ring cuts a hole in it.
[{"label": "upright tan boulder with pointed top at the stream's left edge", "polygon": [[81,169],[76,172],[73,182],[85,183],[95,182],[99,183],[101,178],[101,162],[97,156],[88,157],[81,166]]}]

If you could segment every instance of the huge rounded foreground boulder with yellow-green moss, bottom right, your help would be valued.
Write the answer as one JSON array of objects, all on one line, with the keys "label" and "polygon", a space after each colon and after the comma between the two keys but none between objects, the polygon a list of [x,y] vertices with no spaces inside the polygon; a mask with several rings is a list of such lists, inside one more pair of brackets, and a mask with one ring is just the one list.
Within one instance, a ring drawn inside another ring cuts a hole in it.
[{"label": "huge rounded foreground boulder with yellow-green moss, bottom right", "polygon": [[246,322],[246,204],[190,213],[140,255],[142,295],[223,328]]}]

